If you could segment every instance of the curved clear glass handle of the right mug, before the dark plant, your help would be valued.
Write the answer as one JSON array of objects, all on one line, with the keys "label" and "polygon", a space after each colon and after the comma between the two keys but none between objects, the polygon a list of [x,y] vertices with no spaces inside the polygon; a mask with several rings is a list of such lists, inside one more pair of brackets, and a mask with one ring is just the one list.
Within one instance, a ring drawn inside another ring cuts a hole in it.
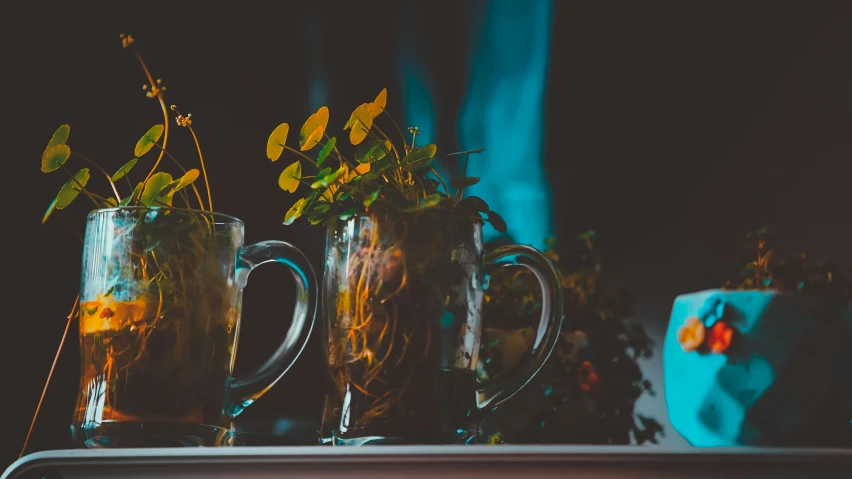
[{"label": "curved clear glass handle of the right mug, before the dark plant", "polygon": [[511,257],[515,257],[514,264],[527,267],[541,284],[541,320],[531,350],[517,364],[479,385],[476,403],[480,409],[497,406],[523,389],[550,357],[562,329],[562,280],[553,264],[530,246],[500,246],[483,257],[486,273],[500,268],[498,261]]}]

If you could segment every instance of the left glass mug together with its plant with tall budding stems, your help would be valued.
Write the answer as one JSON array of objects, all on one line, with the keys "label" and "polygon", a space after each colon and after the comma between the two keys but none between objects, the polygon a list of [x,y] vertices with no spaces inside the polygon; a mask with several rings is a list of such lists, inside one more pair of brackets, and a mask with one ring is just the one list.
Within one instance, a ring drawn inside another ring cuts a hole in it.
[{"label": "left glass mug together with its plant with tall budding stems", "polygon": [[[121,35],[121,41],[139,60],[147,97],[160,107],[163,123],[139,139],[134,157],[114,173],[71,149],[67,124],[53,133],[41,161],[44,173],[68,177],[42,222],[78,198],[91,203],[80,293],[65,330],[79,320],[72,438],[77,447],[226,445],[231,419],[277,381],[304,346],[315,280],[294,247],[244,246],[243,223],[214,212],[192,115],[167,108],[166,87],[154,80],[133,37]],[[192,137],[200,170],[185,168],[167,149],[172,120]],[[75,162],[83,167],[72,170]],[[179,174],[167,172],[167,163]],[[93,188],[97,176],[105,192]],[[248,377],[234,378],[242,289],[255,265],[269,260],[297,277],[294,324],[286,347]]]}]

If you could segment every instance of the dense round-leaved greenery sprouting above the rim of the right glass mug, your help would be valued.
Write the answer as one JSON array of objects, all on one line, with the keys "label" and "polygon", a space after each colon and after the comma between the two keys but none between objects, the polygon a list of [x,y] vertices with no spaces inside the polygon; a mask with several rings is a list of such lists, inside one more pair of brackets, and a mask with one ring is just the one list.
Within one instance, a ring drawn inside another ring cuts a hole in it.
[{"label": "dense round-leaved greenery sprouting above the rim of the right glass mug", "polygon": [[[266,156],[278,161],[286,150],[298,159],[289,164],[278,178],[282,190],[295,193],[300,185],[308,194],[293,204],[284,216],[284,224],[291,224],[305,216],[311,224],[326,225],[336,219],[348,219],[374,209],[392,209],[402,212],[424,210],[453,210],[471,218],[488,221],[500,232],[506,223],[481,198],[464,196],[465,188],[476,184],[478,178],[457,178],[450,182],[451,189],[438,174],[432,163],[437,158],[434,144],[417,146],[417,128],[409,128],[409,145],[396,121],[386,110],[387,90],[383,89],[375,100],[359,105],[343,129],[349,131],[349,142],[355,146],[351,156],[338,148],[336,136],[327,133],[329,110],[323,106],[305,121],[299,130],[299,148],[287,145],[290,126],[278,125],[269,135]],[[398,133],[393,140],[378,124],[384,115]],[[401,144],[401,146],[400,146]],[[322,145],[315,158],[305,152]],[[470,155],[485,148],[451,153],[464,157],[464,171]],[[450,156],[448,155],[448,156]],[[313,166],[313,176],[303,176],[303,162]],[[333,163],[328,165],[328,163]],[[484,216],[483,216],[484,215]]]}]

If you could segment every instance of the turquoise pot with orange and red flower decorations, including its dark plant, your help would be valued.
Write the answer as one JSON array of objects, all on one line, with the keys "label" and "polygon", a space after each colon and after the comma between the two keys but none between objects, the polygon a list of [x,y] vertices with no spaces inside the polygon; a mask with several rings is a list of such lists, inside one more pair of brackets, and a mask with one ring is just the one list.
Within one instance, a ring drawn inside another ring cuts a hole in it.
[{"label": "turquoise pot with orange and red flower decorations, including its dark plant", "polygon": [[678,296],[664,346],[672,426],[698,447],[852,444],[850,272],[770,248],[721,289]]}]

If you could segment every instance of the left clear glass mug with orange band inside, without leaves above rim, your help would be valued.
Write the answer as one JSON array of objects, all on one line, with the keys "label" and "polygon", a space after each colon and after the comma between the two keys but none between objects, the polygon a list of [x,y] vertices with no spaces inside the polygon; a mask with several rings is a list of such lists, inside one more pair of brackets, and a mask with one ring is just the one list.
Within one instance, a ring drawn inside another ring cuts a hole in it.
[{"label": "left clear glass mug with orange band inside, without leaves above rim", "polygon": [[[233,377],[242,291],[267,262],[296,279],[293,323],[266,363]],[[177,208],[90,213],[81,283],[75,447],[233,444],[233,418],[299,356],[317,303],[297,248],[244,246],[242,221]]]}]

